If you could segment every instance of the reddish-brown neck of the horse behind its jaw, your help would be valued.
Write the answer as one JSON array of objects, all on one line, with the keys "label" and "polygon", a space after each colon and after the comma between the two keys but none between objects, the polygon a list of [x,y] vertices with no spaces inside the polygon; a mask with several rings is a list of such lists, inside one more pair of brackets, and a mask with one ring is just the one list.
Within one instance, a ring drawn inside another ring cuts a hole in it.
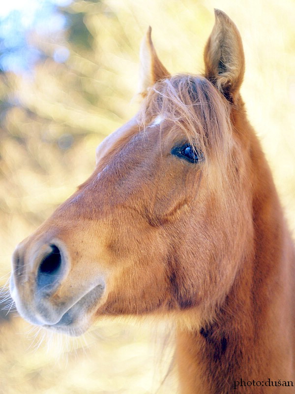
[{"label": "reddish-brown neck of the horse behind its jaw", "polygon": [[[237,130],[246,125],[251,135],[254,253],[243,262],[214,323],[177,332],[181,394],[231,393],[240,379],[295,379],[294,247],[260,143],[243,111],[234,121]],[[262,387],[243,387],[253,390],[264,393]]]}]

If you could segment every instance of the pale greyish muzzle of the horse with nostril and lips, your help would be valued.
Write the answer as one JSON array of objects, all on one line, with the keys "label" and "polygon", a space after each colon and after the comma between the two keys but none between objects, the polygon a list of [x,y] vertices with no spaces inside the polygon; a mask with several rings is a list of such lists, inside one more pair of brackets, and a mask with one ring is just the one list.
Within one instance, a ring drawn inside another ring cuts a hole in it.
[{"label": "pale greyish muzzle of the horse with nostril and lips", "polygon": [[10,293],[30,323],[80,335],[92,323],[105,282],[93,272],[83,272],[82,279],[61,240],[34,246],[24,241],[13,254]]}]

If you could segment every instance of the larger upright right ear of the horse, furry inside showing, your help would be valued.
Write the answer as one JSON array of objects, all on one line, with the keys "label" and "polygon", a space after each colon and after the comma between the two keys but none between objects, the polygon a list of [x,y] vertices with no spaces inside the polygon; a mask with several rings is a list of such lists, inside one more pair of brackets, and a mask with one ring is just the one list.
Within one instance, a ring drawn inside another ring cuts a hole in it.
[{"label": "larger upright right ear of the horse, furry inside showing", "polygon": [[219,9],[214,12],[215,25],[204,51],[205,76],[234,102],[245,70],[242,40],[234,22]]}]

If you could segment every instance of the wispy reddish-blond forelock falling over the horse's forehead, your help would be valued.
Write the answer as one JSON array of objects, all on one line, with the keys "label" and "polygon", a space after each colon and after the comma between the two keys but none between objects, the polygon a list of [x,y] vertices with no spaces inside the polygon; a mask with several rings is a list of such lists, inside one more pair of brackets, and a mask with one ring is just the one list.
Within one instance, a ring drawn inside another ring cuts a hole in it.
[{"label": "wispy reddish-blond forelock falling over the horse's forehead", "polygon": [[[229,181],[229,174],[234,170],[233,159],[236,161],[233,158],[231,105],[209,80],[182,73],[158,81],[148,89],[142,103],[141,129],[145,130],[156,116],[169,122],[169,133],[176,130],[179,133],[180,129],[184,139],[197,152],[203,153],[206,160],[202,163],[202,171],[209,170],[210,166],[210,179],[215,187],[216,182]],[[160,126],[162,124],[164,122]],[[223,168],[225,176],[220,177],[218,171],[214,176],[214,167]]]}]

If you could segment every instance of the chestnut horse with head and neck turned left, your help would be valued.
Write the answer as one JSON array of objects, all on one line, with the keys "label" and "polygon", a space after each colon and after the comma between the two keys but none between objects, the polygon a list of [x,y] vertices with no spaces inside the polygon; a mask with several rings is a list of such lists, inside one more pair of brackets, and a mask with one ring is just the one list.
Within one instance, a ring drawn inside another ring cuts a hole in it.
[{"label": "chestnut horse with head and neck turned left", "polygon": [[219,10],[204,57],[204,75],[171,76],[148,30],[139,113],[17,247],[11,295],[71,335],[105,315],[169,317],[181,394],[295,393],[295,252]]}]

